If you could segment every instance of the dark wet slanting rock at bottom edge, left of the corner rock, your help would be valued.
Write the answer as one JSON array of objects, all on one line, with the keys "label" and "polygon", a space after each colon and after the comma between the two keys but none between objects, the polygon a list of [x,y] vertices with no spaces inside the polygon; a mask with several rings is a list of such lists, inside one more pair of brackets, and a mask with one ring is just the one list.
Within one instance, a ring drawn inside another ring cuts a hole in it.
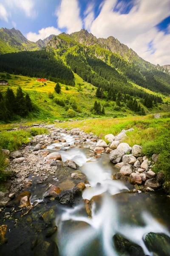
[{"label": "dark wet slanting rock at bottom edge, left of the corner rock", "polygon": [[120,255],[128,256],[144,256],[144,251],[141,246],[133,243],[132,241],[126,239],[122,235],[115,234],[113,236],[113,243],[116,250]]}]

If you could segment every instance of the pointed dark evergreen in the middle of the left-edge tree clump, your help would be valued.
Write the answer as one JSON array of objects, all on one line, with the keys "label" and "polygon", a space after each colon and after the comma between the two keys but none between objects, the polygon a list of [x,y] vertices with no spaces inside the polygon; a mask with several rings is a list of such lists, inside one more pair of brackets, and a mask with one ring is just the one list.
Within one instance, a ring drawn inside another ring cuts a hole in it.
[{"label": "pointed dark evergreen in the middle of the left-edge tree clump", "polygon": [[16,94],[16,113],[19,116],[25,116],[27,113],[26,109],[26,100],[24,97],[23,90],[20,86],[17,87],[17,94]]}]

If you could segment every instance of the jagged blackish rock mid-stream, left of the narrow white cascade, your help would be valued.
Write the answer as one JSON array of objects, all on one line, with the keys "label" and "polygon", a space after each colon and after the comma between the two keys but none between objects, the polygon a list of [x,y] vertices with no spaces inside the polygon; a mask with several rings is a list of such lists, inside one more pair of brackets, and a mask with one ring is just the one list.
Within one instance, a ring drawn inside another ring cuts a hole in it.
[{"label": "jagged blackish rock mid-stream, left of the narrow white cascade", "polygon": [[67,204],[72,206],[75,202],[75,198],[82,196],[82,189],[74,187],[72,189],[62,190],[62,192],[57,195],[57,200],[60,204]]}]

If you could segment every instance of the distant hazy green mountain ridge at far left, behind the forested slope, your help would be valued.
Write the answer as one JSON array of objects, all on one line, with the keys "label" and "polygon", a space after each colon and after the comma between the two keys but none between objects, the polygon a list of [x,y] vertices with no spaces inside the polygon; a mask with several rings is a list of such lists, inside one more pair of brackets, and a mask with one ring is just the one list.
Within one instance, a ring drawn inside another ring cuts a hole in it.
[{"label": "distant hazy green mountain ridge at far left, behind the forested slope", "polygon": [[34,51],[45,47],[53,35],[36,43],[29,41],[18,29],[0,29],[0,54],[19,51]]}]

